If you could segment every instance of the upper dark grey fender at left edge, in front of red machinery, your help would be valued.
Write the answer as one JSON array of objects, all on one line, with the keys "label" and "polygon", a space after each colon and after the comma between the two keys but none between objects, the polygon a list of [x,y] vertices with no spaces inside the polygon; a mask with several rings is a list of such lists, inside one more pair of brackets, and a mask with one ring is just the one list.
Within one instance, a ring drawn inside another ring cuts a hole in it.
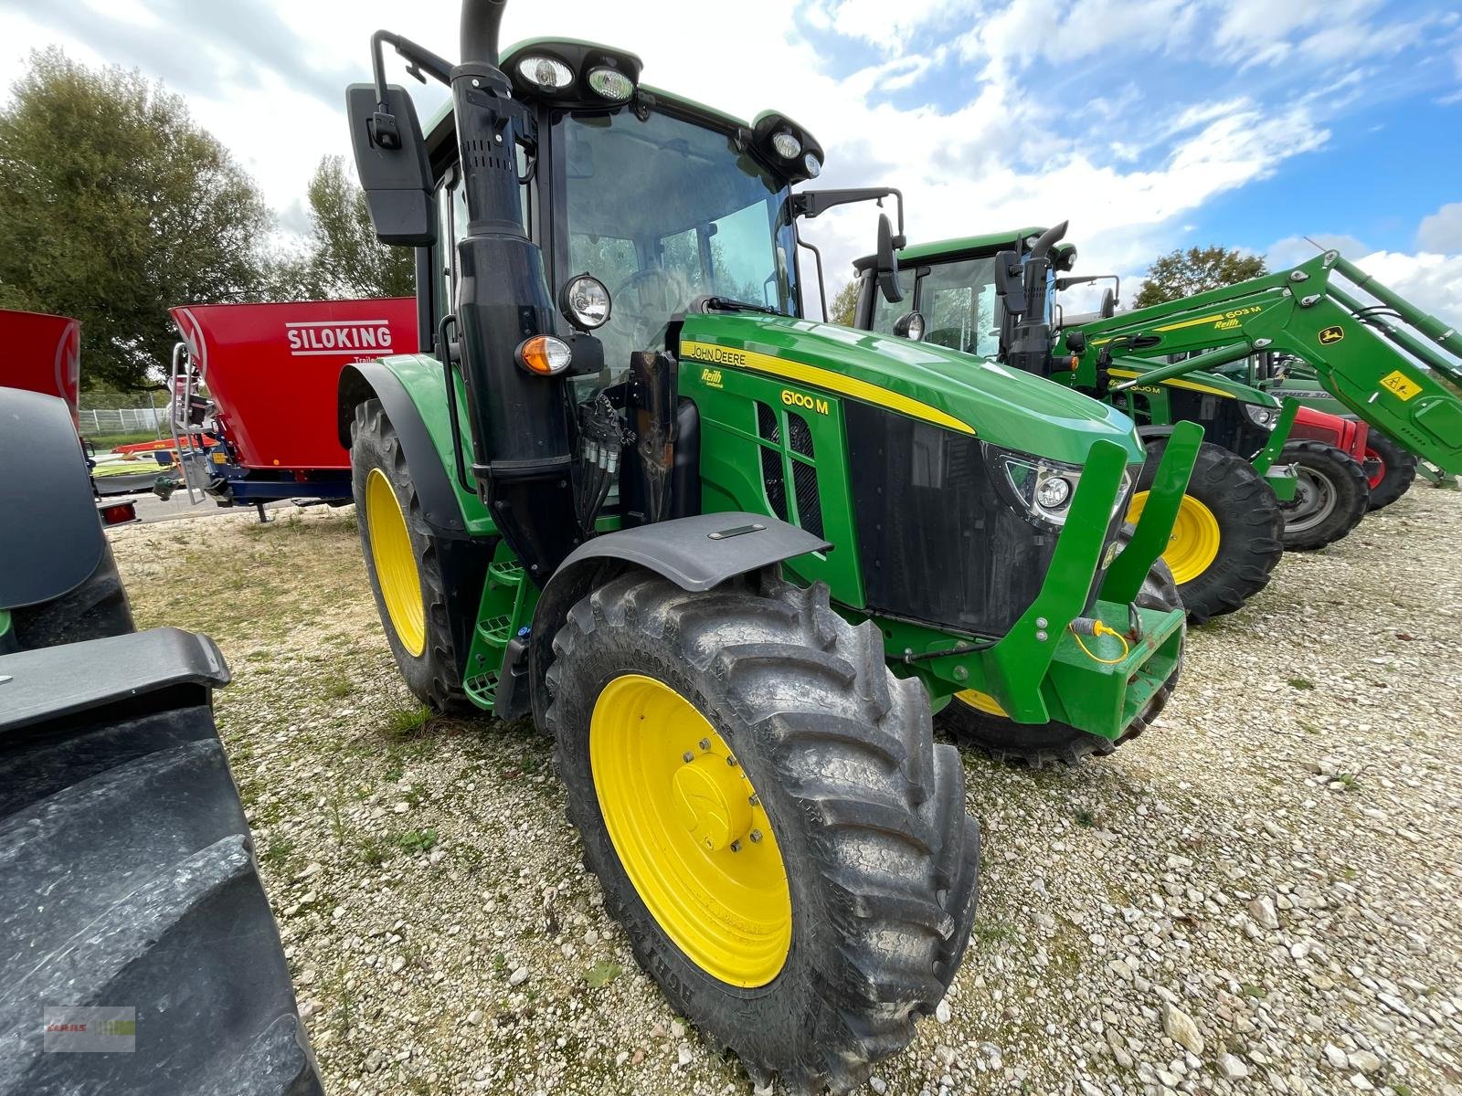
[{"label": "upper dark grey fender at left edge, in front of red machinery", "polygon": [[101,563],[107,538],[66,400],[0,389],[0,609],[60,598]]}]

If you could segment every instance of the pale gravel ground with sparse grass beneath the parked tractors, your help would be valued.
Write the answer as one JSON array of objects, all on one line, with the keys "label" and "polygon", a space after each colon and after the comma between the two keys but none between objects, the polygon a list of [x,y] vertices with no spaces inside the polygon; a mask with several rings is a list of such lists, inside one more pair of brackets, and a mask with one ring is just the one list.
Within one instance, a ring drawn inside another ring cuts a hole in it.
[{"label": "pale gravel ground with sparse grass beneath the parked tractors", "polygon": [[[332,1093],[737,1093],[630,957],[526,725],[425,720],[349,510],[114,532],[218,716]],[[1156,728],[965,756],[975,941],[879,1093],[1462,1096],[1462,497],[1417,487],[1190,633]],[[947,1005],[947,1007],[946,1007]]]}]

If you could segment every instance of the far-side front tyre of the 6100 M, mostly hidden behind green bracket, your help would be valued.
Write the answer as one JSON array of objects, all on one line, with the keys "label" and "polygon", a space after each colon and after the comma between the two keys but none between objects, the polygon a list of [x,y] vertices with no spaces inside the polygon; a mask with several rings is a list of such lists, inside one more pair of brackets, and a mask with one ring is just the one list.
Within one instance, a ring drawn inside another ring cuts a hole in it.
[{"label": "far-side front tyre of the 6100 M, mostly hidden behind green bracket", "polygon": [[[1145,609],[1183,608],[1173,571],[1162,560],[1152,564],[1136,601]],[[1016,723],[1004,715],[993,697],[974,690],[956,693],[944,710],[939,713],[936,722],[950,738],[977,747],[997,761],[1019,761],[1032,769],[1050,764],[1077,764],[1086,757],[1105,757],[1118,745],[1146,731],[1167,707],[1168,697],[1173,696],[1181,672],[1183,652],[1180,650],[1177,665],[1168,680],[1152,694],[1137,718],[1117,739],[1102,738],[1054,719],[1050,723]]]}]

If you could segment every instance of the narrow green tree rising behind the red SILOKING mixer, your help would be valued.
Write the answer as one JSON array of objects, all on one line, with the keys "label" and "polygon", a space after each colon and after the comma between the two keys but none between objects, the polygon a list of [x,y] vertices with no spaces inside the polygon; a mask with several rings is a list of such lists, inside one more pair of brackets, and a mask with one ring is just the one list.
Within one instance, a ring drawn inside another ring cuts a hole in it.
[{"label": "narrow green tree rising behind the red SILOKING mixer", "polygon": [[269,278],[272,297],[411,297],[417,292],[415,251],[376,238],[366,191],[344,156],[325,156],[310,178],[310,243],[285,257]]}]

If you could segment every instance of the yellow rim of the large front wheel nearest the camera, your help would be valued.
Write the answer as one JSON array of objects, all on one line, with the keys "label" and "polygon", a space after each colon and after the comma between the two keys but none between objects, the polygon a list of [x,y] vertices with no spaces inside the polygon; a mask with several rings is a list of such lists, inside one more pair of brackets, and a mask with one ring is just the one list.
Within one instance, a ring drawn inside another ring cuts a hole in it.
[{"label": "yellow rim of the large front wheel nearest the camera", "polygon": [[792,941],[787,869],[709,720],[670,685],[626,674],[594,704],[589,764],[614,852],[675,947],[731,985],[776,978]]}]

